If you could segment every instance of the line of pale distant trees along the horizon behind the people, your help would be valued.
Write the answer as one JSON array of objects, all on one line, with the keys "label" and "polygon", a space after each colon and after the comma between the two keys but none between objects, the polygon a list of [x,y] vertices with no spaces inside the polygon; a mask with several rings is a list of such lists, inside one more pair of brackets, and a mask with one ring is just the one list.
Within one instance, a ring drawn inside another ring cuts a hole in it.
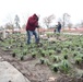
[{"label": "line of pale distant trees along the horizon behind the people", "polygon": [[[68,13],[63,13],[62,17],[59,19],[59,21],[61,22],[63,27],[71,28],[73,26],[73,24],[70,22],[70,17],[71,16]],[[46,25],[47,28],[49,28],[50,24],[52,23],[54,20],[56,20],[56,16],[54,14],[51,14],[51,15],[45,16],[43,19],[43,23]],[[20,22],[21,22],[21,20],[19,17],[19,15],[16,14],[14,16],[14,23],[12,23],[12,21],[10,20],[10,22],[7,23],[4,27],[7,30],[14,30],[14,28],[25,27],[25,24],[23,24],[23,26],[20,26]],[[56,22],[55,22],[55,24],[56,24]],[[83,27],[83,20],[81,21],[81,23],[75,24],[75,26],[82,26]],[[1,28],[2,28],[2,26],[0,26],[0,30]]]}]

